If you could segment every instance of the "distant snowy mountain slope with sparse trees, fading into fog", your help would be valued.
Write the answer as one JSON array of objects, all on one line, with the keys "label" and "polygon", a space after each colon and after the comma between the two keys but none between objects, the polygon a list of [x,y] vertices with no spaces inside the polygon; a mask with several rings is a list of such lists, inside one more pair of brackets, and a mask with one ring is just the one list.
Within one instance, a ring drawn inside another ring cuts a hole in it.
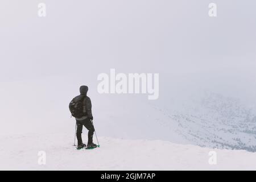
[{"label": "distant snowy mountain slope with sparse trees, fading into fog", "polygon": [[256,114],[240,101],[206,93],[198,100],[184,103],[181,110],[173,108],[160,109],[170,118],[162,122],[168,125],[175,121],[177,133],[189,143],[256,151]]}]

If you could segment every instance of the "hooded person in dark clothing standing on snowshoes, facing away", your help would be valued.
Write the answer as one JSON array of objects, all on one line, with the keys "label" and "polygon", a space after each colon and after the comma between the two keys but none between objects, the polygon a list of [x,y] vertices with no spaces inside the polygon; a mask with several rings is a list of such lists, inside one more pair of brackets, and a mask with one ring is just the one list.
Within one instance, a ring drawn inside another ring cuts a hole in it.
[{"label": "hooded person in dark clothing standing on snowshoes, facing away", "polygon": [[[82,126],[85,126],[88,131],[88,143],[87,148],[95,148],[97,147],[96,144],[93,143],[93,133],[94,127],[92,124],[93,115],[92,115],[92,103],[90,102],[90,98],[87,96],[88,86],[82,85],[80,86],[80,95],[73,98],[71,103],[81,103],[80,107],[81,111],[79,114],[74,114],[76,118],[77,130],[76,130],[76,137],[77,137],[77,149],[81,149],[86,147],[84,143],[82,143]],[[72,111],[71,111],[72,113]],[[72,114],[73,115],[73,114]]]}]

